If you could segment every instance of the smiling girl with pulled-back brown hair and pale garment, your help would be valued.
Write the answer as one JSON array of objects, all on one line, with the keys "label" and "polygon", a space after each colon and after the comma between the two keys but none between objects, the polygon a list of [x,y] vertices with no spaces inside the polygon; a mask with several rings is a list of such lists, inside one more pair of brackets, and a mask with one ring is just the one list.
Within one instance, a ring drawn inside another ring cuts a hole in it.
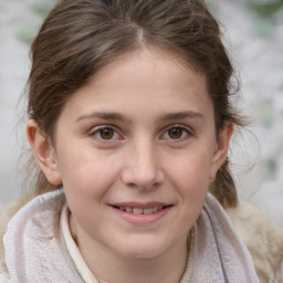
[{"label": "smiling girl with pulled-back brown hair and pale garment", "polygon": [[[9,222],[0,282],[259,282],[222,209],[247,210],[227,158],[232,73],[201,0],[59,1],[32,44],[38,197]],[[256,271],[276,282],[270,228]]]}]

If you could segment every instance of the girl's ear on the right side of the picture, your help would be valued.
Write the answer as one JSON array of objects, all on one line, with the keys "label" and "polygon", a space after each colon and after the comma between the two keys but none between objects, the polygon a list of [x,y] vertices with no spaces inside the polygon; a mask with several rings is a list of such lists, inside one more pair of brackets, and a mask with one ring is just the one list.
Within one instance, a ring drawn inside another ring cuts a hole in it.
[{"label": "girl's ear on the right side of the picture", "polygon": [[219,133],[217,149],[213,154],[212,165],[210,168],[210,180],[214,180],[218,169],[223,165],[227,159],[230,138],[233,134],[234,125],[229,123]]}]

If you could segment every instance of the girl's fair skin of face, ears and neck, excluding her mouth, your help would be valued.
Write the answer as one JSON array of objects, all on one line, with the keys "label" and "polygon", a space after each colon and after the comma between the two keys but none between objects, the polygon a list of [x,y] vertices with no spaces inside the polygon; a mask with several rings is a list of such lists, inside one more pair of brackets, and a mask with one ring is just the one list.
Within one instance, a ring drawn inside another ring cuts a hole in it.
[{"label": "girl's fair skin of face, ears and neck, excluding her mouth", "polygon": [[[206,77],[156,49],[113,62],[77,91],[54,145],[34,120],[27,127],[46,178],[64,186],[86,264],[115,283],[180,281],[188,233],[232,132],[228,124],[216,136]],[[153,222],[130,222],[113,207],[125,202],[170,208]]]}]

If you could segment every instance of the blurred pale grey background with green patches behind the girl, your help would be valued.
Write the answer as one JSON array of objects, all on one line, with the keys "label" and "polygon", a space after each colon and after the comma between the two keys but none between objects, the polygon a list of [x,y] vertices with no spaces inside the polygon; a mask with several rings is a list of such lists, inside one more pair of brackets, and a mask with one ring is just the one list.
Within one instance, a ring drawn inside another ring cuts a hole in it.
[{"label": "blurred pale grey background with green patches behind the girl", "polygon": [[[240,197],[283,227],[283,0],[207,0],[222,23],[250,126],[230,150]],[[19,102],[29,46],[54,0],[0,0],[0,206],[20,195],[24,126]]]}]

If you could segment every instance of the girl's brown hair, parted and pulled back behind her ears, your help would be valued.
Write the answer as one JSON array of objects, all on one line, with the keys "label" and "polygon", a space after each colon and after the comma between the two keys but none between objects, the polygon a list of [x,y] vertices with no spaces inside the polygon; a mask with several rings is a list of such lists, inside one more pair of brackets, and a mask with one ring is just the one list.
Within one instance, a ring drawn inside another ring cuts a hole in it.
[{"label": "girl's brown hair, parted and pulled back behind her ears", "polygon": [[[107,63],[144,45],[180,54],[206,75],[217,133],[226,123],[242,124],[229,98],[233,67],[219,24],[202,0],[59,1],[31,48],[29,118],[52,139],[72,94]],[[35,175],[36,195],[56,189],[39,168]],[[237,205],[228,160],[218,171],[212,191],[223,206]]]}]

